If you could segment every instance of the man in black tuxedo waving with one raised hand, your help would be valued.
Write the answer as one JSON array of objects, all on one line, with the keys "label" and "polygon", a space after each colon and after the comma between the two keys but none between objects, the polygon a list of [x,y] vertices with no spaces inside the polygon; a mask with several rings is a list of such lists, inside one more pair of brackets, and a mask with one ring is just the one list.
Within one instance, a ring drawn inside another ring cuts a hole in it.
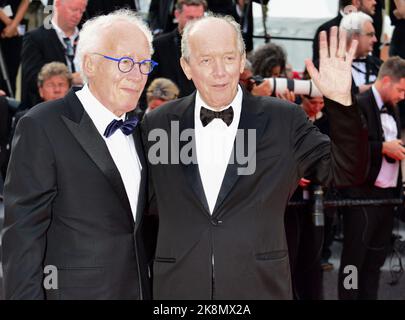
[{"label": "man in black tuxedo waving with one raised hand", "polygon": [[181,64],[197,92],[143,120],[159,215],[154,298],[292,298],[284,212],[298,181],[350,185],[366,173],[367,129],[350,93],[356,43],[346,54],[344,36],[334,28],[328,50],[322,33],[319,71],[307,61],[326,97],[329,140],[300,107],[241,89],[235,21],[186,26]]}]

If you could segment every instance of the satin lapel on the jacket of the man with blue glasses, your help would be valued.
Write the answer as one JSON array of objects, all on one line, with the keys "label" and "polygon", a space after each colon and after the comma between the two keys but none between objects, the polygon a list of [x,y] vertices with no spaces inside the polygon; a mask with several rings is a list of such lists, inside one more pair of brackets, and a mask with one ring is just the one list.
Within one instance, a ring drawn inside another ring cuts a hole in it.
[{"label": "satin lapel on the jacket of the man with blue glasses", "polygon": [[[71,117],[62,116],[62,120],[72,135],[89,155],[100,171],[105,175],[113,190],[120,199],[130,223],[134,224],[131,206],[125,191],[121,175],[112,159],[104,139],[98,133],[92,120],[84,111],[79,99],[73,91],[70,91],[65,100],[72,110]],[[81,112],[81,116],[79,113]]]}]

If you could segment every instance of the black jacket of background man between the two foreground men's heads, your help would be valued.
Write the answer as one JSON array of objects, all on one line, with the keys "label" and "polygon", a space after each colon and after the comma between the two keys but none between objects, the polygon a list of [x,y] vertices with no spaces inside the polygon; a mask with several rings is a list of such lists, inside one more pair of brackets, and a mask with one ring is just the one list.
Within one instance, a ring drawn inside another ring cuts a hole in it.
[{"label": "black jacket of background man between the two foreground men's heads", "polygon": [[152,59],[159,65],[149,75],[148,83],[156,78],[167,78],[172,80],[180,89],[180,97],[191,94],[194,90],[194,83],[188,80],[180,65],[181,57],[181,36],[176,28],[170,33],[158,36],[153,41],[155,53]]}]

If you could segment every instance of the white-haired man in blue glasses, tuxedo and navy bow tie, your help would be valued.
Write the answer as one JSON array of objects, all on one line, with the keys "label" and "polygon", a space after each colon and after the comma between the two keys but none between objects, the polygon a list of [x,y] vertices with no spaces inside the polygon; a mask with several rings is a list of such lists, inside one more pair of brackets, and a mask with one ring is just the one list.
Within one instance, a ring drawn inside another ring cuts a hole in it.
[{"label": "white-haired man in blue glasses, tuxedo and navy bow tie", "polygon": [[83,89],[19,121],[5,183],[6,299],[150,297],[147,167],[131,113],[156,65],[151,42],[130,11],[90,20],[77,48]]}]

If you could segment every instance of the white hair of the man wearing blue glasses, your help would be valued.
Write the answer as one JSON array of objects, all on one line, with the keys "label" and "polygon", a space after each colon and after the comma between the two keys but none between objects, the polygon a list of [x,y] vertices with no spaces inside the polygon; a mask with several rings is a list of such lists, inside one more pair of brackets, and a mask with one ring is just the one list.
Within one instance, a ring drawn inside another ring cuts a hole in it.
[{"label": "white hair of the man wearing blue glasses", "polygon": [[[80,61],[82,78],[85,82],[87,82],[87,77],[83,72],[84,57],[86,54],[97,52],[100,49],[106,33],[117,22],[127,22],[128,24],[132,24],[135,28],[141,30],[148,41],[150,54],[153,54],[152,33],[146,23],[143,22],[137,13],[128,9],[120,9],[108,15],[97,16],[91,20],[88,20],[83,25],[83,28],[79,34],[79,42],[76,49],[76,54]],[[123,30],[123,32],[131,31]]]}]

